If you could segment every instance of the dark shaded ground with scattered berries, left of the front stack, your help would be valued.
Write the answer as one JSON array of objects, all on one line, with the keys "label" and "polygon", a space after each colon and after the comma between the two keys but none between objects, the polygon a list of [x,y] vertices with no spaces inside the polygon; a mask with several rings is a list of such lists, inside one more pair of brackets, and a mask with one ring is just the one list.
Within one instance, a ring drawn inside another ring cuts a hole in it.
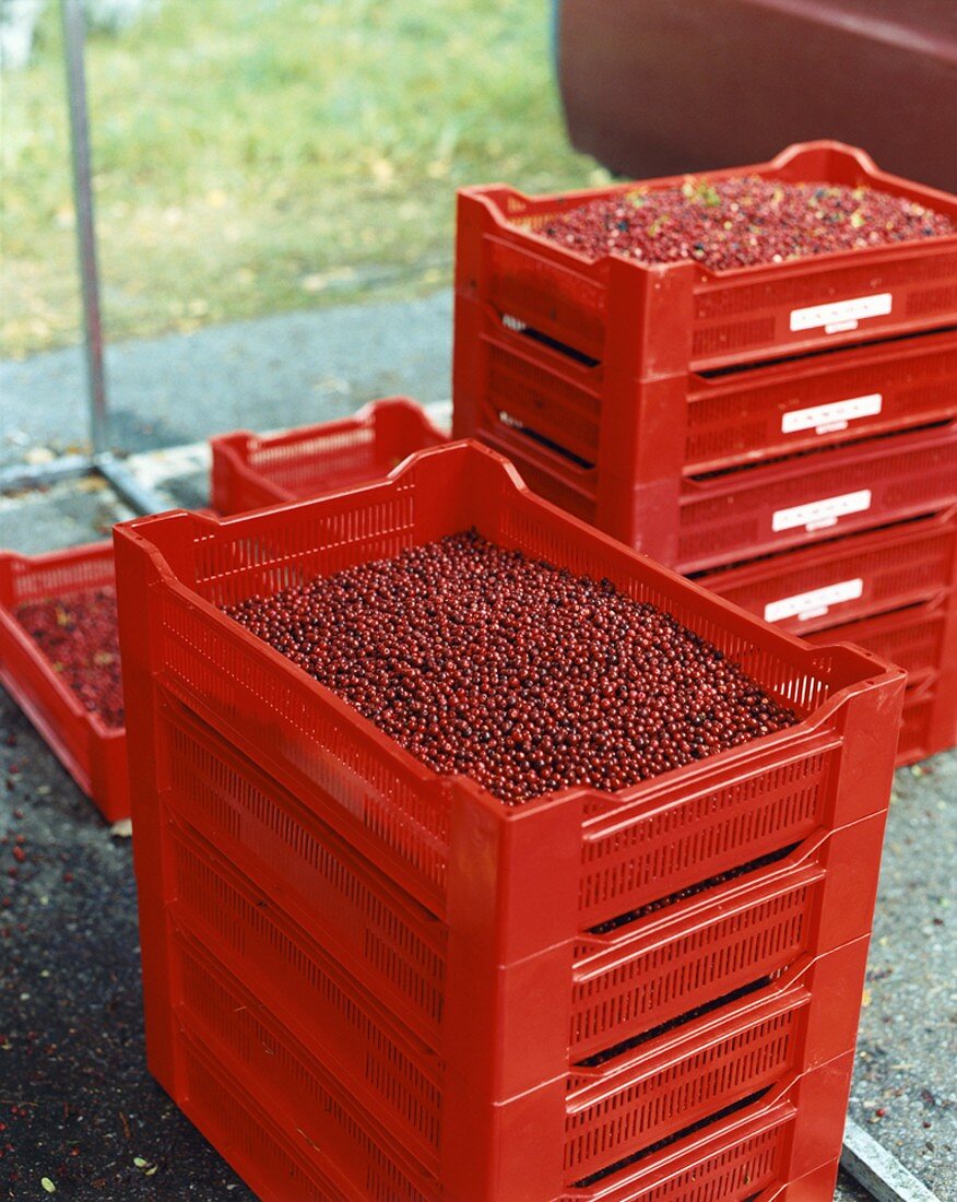
[{"label": "dark shaded ground with scattered berries, left of the front stack", "polygon": [[147,1075],[131,841],[2,690],[0,736],[0,1197],[252,1198]]}]

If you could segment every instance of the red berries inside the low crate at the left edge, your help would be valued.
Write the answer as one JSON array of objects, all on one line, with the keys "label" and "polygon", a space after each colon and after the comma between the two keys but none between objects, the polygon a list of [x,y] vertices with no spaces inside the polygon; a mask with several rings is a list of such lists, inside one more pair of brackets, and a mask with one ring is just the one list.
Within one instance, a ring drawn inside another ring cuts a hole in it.
[{"label": "red berries inside the low crate at the left edge", "polygon": [[123,726],[117,594],[87,589],[20,606],[17,620],[91,713]]}]

